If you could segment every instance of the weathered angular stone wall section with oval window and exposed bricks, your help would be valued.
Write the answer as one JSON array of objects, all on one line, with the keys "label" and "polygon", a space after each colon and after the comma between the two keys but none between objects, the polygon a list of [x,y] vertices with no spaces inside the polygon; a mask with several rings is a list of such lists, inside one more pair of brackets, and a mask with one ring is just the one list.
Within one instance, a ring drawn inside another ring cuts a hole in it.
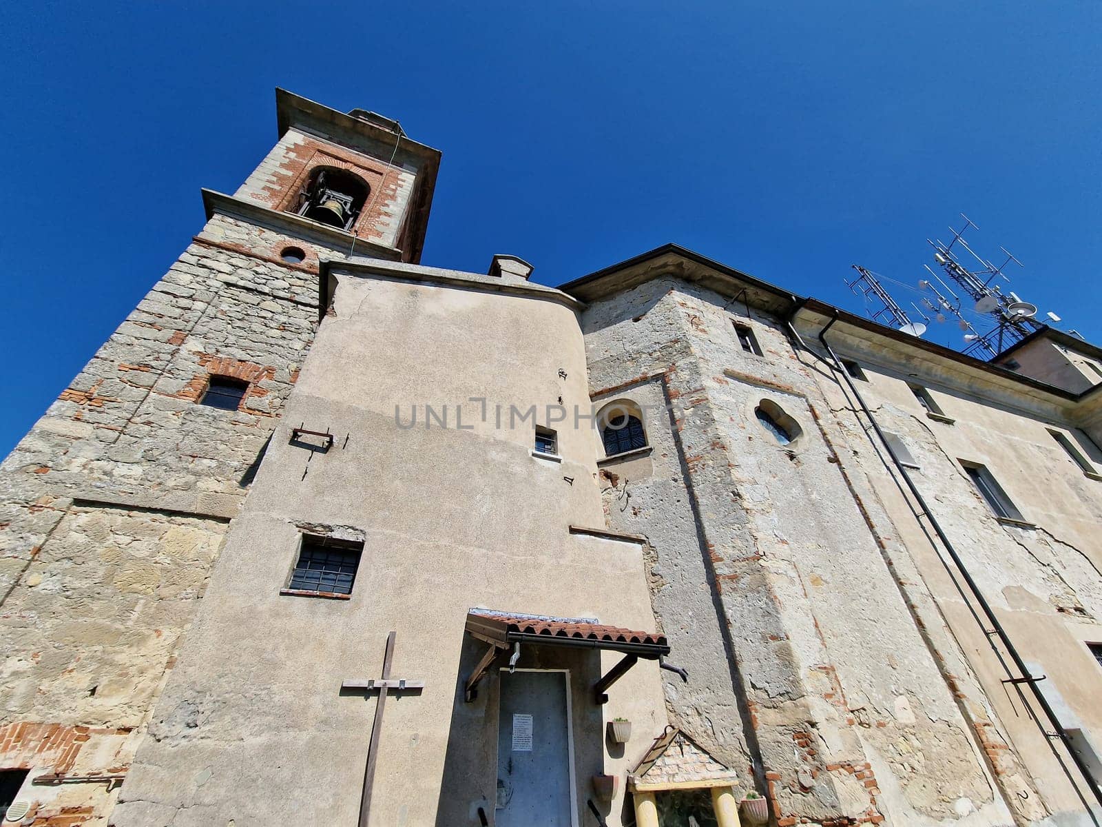
[{"label": "weathered angular stone wall section with oval window and exposed bricks", "polygon": [[[839,469],[829,406],[779,324],[739,319],[764,352],[747,354],[724,304],[659,279],[585,316],[597,399],[661,387],[671,404],[649,466],[602,463],[609,524],[650,539],[656,613],[690,672],[667,678],[671,721],[735,770],[760,762],[781,826],[1009,823]],[[763,399],[792,444],[756,421]]]}]

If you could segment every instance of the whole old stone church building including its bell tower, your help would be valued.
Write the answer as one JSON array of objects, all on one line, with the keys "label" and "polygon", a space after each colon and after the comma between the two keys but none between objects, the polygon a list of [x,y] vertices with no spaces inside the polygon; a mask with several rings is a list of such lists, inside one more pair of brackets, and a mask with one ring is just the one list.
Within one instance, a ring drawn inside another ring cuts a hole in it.
[{"label": "whole old stone church building including its bell tower", "polygon": [[1102,823],[1102,350],[425,267],[440,152],[277,111],[2,465],[4,825]]}]

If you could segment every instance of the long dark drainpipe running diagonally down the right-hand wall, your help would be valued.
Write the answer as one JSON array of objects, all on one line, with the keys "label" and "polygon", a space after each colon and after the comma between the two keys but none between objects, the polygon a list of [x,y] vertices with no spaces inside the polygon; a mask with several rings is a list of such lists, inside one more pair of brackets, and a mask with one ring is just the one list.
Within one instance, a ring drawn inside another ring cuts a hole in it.
[{"label": "long dark drainpipe running diagonally down the right-hand wall", "polygon": [[[808,348],[807,344],[800,337],[800,334],[796,332],[796,327],[792,326],[792,316],[796,315],[796,311],[799,309],[800,305],[797,304],[792,313],[789,314],[789,318],[785,322],[785,324],[788,326],[789,332],[796,337],[796,340],[804,348],[810,351],[810,348]],[[1063,726],[1060,723],[1060,719],[1052,710],[1052,707],[1049,706],[1048,700],[1045,698],[1044,694],[1037,687],[1037,678],[1034,678],[1029,674],[1029,669],[1026,668],[1025,662],[1022,659],[1022,656],[1018,654],[1018,651],[1014,647],[1014,644],[1011,642],[1009,635],[1006,634],[1006,630],[1004,630],[1003,624],[998,622],[998,617],[995,616],[995,612],[991,608],[991,604],[983,597],[983,592],[980,591],[979,584],[975,582],[975,580],[972,579],[972,574],[969,573],[969,570],[965,567],[964,561],[961,559],[960,555],[957,554],[957,549],[953,547],[952,541],[946,535],[944,530],[942,530],[941,524],[938,523],[937,517],[933,516],[933,513],[930,511],[930,507],[926,504],[926,498],[922,496],[921,492],[919,492],[918,486],[915,485],[914,481],[910,479],[910,474],[907,473],[907,469],[903,465],[903,463],[899,462],[899,458],[895,455],[895,452],[892,450],[892,445],[888,444],[888,441],[884,436],[884,431],[880,430],[879,422],[876,421],[876,417],[873,416],[873,411],[868,409],[868,406],[865,404],[864,397],[861,396],[861,391],[857,389],[857,386],[853,384],[853,379],[850,377],[850,374],[846,372],[845,367],[843,367],[842,361],[838,357],[838,354],[834,353],[834,348],[831,347],[830,344],[828,344],[827,331],[833,327],[836,321],[838,321],[838,311],[834,311],[834,315],[830,320],[830,322],[827,323],[827,326],[823,327],[821,331],[819,331],[819,341],[822,343],[822,346],[827,350],[827,353],[830,354],[831,361],[834,363],[833,365],[834,369],[842,376],[842,379],[850,388],[850,393],[852,393],[854,398],[856,398],[857,404],[861,406],[861,409],[865,412],[865,417],[868,418],[869,423],[873,426],[873,430],[876,431],[876,436],[879,438],[880,443],[884,445],[885,449],[887,449],[888,457],[892,458],[892,464],[896,466],[896,470],[903,476],[904,482],[907,484],[907,488],[914,495],[916,502],[918,502],[918,506],[921,509],[921,514],[925,515],[926,518],[930,522],[930,527],[933,528],[934,534],[938,535],[938,539],[941,540],[941,544],[949,552],[950,558],[952,558],[953,565],[961,572],[961,577],[968,584],[969,591],[972,592],[972,595],[975,598],[976,602],[980,604],[980,608],[983,610],[984,616],[991,623],[992,631],[987,632],[986,630],[984,630],[984,633],[988,636],[988,638],[992,634],[998,636],[998,640],[1006,648],[1006,652],[1011,656],[1011,659],[1014,662],[1014,665],[1018,668],[1022,675],[1025,676],[1023,678],[1012,678],[1012,683],[1018,685],[1025,684],[1033,691],[1034,698],[1037,701],[1037,706],[1040,707],[1041,711],[1045,713],[1045,717],[1048,719],[1048,722],[1052,724],[1052,729],[1055,730],[1052,733],[1044,732],[1042,730],[1044,734],[1048,738],[1051,738],[1051,735],[1055,734],[1057,738],[1060,739],[1060,741],[1067,749],[1068,754],[1071,756],[1072,762],[1074,762],[1076,767],[1078,767],[1080,775],[1082,775],[1083,781],[1087,783],[1087,786],[1090,787],[1091,793],[1094,794],[1094,798],[1098,801],[1099,805],[1102,806],[1102,790],[1099,788],[1099,784],[1098,782],[1094,781],[1094,777],[1091,775],[1090,770],[1087,766],[1087,763],[1083,761],[1083,759],[1079,755],[1079,753],[1072,745],[1071,738],[1065,731]]]}]

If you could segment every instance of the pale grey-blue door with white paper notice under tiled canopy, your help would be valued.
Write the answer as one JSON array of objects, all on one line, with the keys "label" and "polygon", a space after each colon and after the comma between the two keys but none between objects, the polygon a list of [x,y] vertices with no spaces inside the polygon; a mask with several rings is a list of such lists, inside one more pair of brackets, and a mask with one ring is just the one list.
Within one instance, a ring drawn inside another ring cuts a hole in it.
[{"label": "pale grey-blue door with white paper notice under tiled canopy", "polygon": [[572,827],[568,673],[501,673],[496,827]]}]

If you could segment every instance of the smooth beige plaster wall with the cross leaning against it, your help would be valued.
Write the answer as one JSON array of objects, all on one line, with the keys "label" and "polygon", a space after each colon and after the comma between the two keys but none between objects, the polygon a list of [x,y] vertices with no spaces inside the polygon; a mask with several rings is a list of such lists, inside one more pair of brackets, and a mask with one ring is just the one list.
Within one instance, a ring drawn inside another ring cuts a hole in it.
[{"label": "smooth beige plaster wall with the cross leaning against it", "polygon": [[[478,281],[442,289],[342,276],[123,786],[119,827],[353,821],[375,700],[341,694],[339,683],[379,675],[391,630],[392,674],[425,689],[388,700],[371,823],[478,824],[477,807],[491,809],[495,795],[496,681],[463,704],[483,648],[465,638],[467,610],[651,629],[639,545],[568,530],[604,524],[592,428],[558,425],[554,462],[531,455],[530,419],[495,421],[497,404],[587,405],[574,312]],[[486,421],[471,397],[487,399]],[[449,426],[425,427],[425,405],[437,417],[446,406]],[[329,430],[335,445],[289,444],[300,422]],[[280,594],[301,530],[364,538],[350,600]],[[580,819],[588,775],[626,761],[606,756],[603,721],[638,722],[633,754],[665,726],[652,662],[618,681],[608,705],[593,702],[599,667],[615,659],[522,647],[522,668],[572,670]],[[623,806],[622,791],[603,807],[609,824]]]}]

